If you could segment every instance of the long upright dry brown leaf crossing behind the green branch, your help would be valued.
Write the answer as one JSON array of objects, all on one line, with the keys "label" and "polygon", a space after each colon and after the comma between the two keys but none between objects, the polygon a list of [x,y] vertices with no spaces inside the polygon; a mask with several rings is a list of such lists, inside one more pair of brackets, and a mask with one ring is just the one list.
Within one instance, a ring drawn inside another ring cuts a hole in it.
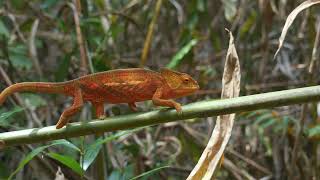
[{"label": "long upright dry brown leaf crossing behind the green branch", "polygon": [[[229,35],[229,48],[222,78],[221,98],[223,99],[238,97],[240,92],[239,58],[232,33],[229,32]],[[234,118],[235,114],[218,116],[207,147],[187,178],[188,180],[211,179],[213,177],[213,173],[231,136]]]}]

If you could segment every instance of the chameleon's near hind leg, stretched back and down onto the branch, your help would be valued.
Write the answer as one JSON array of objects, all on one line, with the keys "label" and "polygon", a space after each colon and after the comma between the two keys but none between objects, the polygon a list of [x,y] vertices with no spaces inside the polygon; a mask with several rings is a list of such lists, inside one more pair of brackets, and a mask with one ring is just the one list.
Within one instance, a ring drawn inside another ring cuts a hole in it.
[{"label": "chameleon's near hind leg, stretched back and down onto the branch", "polygon": [[70,106],[65,111],[63,111],[58,123],[56,124],[56,128],[60,129],[64,125],[66,125],[70,120],[71,116],[77,113],[82,106],[83,106],[82,92],[81,92],[81,89],[79,88],[75,90],[72,106]]}]

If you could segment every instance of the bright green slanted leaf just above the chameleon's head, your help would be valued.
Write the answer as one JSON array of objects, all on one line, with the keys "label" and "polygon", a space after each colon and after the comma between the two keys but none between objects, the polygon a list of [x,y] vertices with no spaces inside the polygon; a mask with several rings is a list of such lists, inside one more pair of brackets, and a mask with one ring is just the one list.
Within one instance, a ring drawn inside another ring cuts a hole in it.
[{"label": "bright green slanted leaf just above the chameleon's head", "polygon": [[190,40],[185,46],[183,46],[171,59],[170,63],[167,65],[167,68],[173,69],[177,67],[183,57],[188,54],[188,52],[191,50],[191,48],[198,43],[197,39]]}]

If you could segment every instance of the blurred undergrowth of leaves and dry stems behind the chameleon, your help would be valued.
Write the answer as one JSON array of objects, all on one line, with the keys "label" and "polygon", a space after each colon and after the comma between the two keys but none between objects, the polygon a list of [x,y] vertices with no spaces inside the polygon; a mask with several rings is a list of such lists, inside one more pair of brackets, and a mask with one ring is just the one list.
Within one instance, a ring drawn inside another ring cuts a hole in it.
[{"label": "blurred undergrowth of leaves and dry stems behind the chameleon", "polygon": [[[179,99],[181,103],[218,99],[228,46],[224,28],[235,36],[241,95],[319,84],[319,61],[308,73],[319,7],[298,15],[273,61],[286,17],[303,1],[159,1],[0,0],[0,88],[118,68],[169,67],[192,75],[201,86],[195,95]],[[85,57],[76,28],[81,29]],[[70,103],[60,95],[20,93],[0,107],[0,131],[53,125]],[[152,108],[150,102],[139,103],[141,111]],[[126,105],[108,104],[106,111],[110,116],[130,113]],[[87,105],[75,119],[90,120],[91,114]],[[238,114],[216,177],[320,178],[319,114],[317,104]],[[215,117],[195,120],[105,133],[99,139],[87,136],[8,148],[0,152],[0,178],[95,179],[98,167],[91,164],[103,149],[109,179],[130,179],[143,172],[142,179],[185,179],[215,123]]]}]

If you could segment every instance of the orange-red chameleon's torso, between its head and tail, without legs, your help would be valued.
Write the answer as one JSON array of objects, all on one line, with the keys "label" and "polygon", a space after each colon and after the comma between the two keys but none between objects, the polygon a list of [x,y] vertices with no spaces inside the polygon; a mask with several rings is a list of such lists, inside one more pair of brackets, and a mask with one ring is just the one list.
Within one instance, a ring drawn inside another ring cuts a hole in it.
[{"label": "orange-red chameleon's torso, between its head and tail, without legs", "polygon": [[162,83],[159,73],[140,68],[106,71],[77,80],[84,100],[115,104],[149,100]]}]

